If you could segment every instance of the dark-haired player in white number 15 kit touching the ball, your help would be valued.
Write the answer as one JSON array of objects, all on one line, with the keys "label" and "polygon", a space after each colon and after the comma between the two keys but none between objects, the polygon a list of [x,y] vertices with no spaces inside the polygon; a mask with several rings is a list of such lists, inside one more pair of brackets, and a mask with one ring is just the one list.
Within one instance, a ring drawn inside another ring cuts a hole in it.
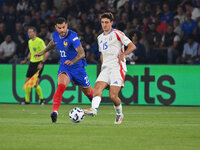
[{"label": "dark-haired player in white number 15 kit touching the ball", "polygon": [[[110,86],[109,96],[116,110],[114,124],[121,124],[124,115],[118,93],[124,86],[125,73],[127,72],[125,55],[130,54],[136,47],[123,32],[112,28],[113,19],[113,14],[110,12],[103,13],[100,17],[103,33],[97,39],[101,52],[101,72],[94,86],[92,107],[84,111],[87,115],[96,116],[102,92]],[[127,46],[125,51],[124,46]]]}]

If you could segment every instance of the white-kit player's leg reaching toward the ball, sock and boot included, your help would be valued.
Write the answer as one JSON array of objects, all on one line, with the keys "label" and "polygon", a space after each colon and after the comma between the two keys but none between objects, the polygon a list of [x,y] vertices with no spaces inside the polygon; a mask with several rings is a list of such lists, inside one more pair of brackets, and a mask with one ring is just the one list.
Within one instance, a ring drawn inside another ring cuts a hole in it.
[{"label": "white-kit player's leg reaching toward the ball, sock and boot included", "polygon": [[108,84],[103,81],[98,81],[95,83],[94,97],[92,99],[92,107],[90,109],[85,109],[84,110],[85,114],[90,115],[90,116],[97,115],[97,110],[98,110],[100,102],[101,102],[102,92],[107,86],[108,86]]}]

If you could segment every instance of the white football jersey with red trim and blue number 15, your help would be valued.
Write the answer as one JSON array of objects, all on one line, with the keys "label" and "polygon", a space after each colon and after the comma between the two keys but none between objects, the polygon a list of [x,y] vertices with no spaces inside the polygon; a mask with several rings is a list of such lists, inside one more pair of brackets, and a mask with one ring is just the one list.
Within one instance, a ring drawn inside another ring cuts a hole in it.
[{"label": "white football jersey with red trim and blue number 15", "polygon": [[119,63],[118,57],[124,52],[124,45],[127,46],[131,40],[121,31],[112,29],[108,35],[104,33],[98,37],[99,51],[103,55],[102,68],[119,67],[124,71],[126,69],[126,60]]}]

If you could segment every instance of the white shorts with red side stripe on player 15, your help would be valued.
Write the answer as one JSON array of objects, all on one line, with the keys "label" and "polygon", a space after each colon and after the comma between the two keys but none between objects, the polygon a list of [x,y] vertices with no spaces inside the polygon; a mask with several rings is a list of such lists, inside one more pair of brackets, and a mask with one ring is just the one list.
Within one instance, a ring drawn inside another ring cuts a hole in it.
[{"label": "white shorts with red side stripe on player 15", "polygon": [[120,70],[118,68],[105,68],[100,72],[96,82],[104,81],[110,86],[124,87],[125,73],[126,72],[122,69]]}]

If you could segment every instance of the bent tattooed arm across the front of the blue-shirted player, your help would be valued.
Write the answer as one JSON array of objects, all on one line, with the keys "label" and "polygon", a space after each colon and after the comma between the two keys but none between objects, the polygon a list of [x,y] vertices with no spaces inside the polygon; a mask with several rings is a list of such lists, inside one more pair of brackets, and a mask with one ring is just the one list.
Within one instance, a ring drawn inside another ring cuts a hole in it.
[{"label": "bent tattooed arm across the front of the blue-shirted player", "polygon": [[85,52],[84,52],[82,45],[75,48],[75,50],[78,52],[78,54],[76,55],[76,57],[73,60],[65,61],[65,63],[64,63],[65,65],[73,65],[85,57]]}]

